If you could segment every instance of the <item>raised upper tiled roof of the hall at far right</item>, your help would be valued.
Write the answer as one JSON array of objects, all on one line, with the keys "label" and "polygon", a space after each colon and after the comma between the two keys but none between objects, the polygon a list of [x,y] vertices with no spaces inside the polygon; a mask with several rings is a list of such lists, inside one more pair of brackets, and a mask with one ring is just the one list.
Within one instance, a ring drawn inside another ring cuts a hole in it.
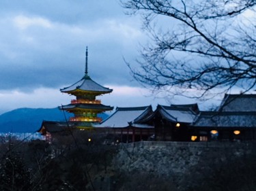
[{"label": "raised upper tiled roof of the hall at far right", "polygon": [[219,111],[256,111],[256,94],[225,94]]}]

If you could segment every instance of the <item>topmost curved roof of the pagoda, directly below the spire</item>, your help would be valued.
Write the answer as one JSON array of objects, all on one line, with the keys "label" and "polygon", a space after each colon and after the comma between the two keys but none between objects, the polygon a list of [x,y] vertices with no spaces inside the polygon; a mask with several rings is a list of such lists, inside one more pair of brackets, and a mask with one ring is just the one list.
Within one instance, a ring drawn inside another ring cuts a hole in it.
[{"label": "topmost curved roof of the pagoda, directly below the spire", "polygon": [[87,74],[85,74],[85,76],[81,80],[74,83],[73,85],[62,88],[61,92],[72,93],[76,90],[97,92],[100,94],[106,94],[113,91],[112,89],[105,88],[104,86],[101,86],[100,84],[94,82],[94,80],[91,80],[91,77],[89,77],[89,75]]}]

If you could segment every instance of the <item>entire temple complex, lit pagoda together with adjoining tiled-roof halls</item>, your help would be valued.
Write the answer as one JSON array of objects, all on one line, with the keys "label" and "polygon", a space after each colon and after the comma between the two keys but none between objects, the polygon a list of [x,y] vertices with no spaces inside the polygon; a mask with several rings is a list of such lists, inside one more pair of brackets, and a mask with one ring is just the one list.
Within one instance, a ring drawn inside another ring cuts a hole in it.
[{"label": "entire temple complex, lit pagoda together with adjoining tiled-roof halls", "polygon": [[215,111],[200,111],[197,103],[117,107],[102,121],[99,114],[113,109],[96,97],[112,92],[91,80],[88,75],[88,51],[85,74],[81,80],[60,91],[73,95],[70,104],[59,109],[74,114],[68,122],[43,121],[38,132],[52,137],[68,134],[77,128],[94,128],[117,142],[134,141],[248,141],[256,140],[256,94],[225,94]]}]

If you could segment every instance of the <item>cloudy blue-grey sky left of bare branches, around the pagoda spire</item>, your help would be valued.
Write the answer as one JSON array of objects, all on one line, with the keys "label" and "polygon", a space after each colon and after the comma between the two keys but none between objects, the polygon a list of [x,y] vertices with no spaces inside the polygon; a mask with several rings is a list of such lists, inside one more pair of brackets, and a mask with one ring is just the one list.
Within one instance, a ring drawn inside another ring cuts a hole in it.
[{"label": "cloudy blue-grey sky left of bare branches, around the pagoda spire", "polygon": [[86,46],[90,77],[113,88],[100,97],[104,105],[175,103],[148,97],[132,80],[124,58],[134,62],[147,36],[139,16],[124,14],[118,0],[1,0],[0,6],[0,114],[70,103],[59,89],[83,77]]}]

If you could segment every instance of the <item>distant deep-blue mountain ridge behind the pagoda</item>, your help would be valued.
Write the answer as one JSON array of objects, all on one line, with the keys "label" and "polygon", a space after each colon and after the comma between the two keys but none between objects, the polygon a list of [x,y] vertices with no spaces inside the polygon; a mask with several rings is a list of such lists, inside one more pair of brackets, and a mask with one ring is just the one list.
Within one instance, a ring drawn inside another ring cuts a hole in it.
[{"label": "distant deep-blue mountain ridge behind the pagoda", "polygon": [[[40,128],[43,120],[64,122],[65,116],[68,120],[73,115],[64,113],[57,107],[14,109],[0,115],[0,133],[34,133]],[[100,114],[99,117],[105,119],[108,115]]]}]

